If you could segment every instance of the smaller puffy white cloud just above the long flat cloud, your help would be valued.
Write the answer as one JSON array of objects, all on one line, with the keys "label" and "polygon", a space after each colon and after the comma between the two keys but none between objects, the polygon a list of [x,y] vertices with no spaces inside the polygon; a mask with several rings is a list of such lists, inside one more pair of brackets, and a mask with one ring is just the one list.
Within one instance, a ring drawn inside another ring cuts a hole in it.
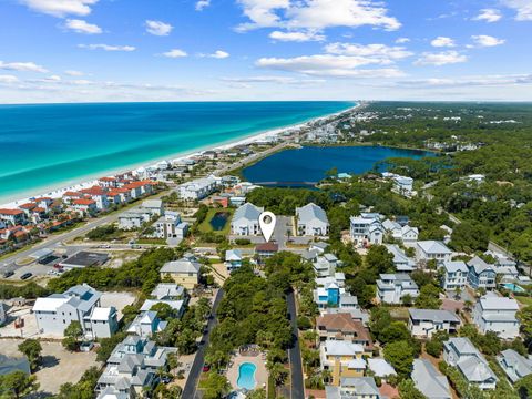
[{"label": "smaller puffy white cloud just above the long flat cloud", "polygon": [[330,43],[325,47],[330,54],[367,57],[372,63],[389,64],[395,60],[401,60],[413,55],[403,47],[390,47],[386,44],[356,44],[356,43]]}]

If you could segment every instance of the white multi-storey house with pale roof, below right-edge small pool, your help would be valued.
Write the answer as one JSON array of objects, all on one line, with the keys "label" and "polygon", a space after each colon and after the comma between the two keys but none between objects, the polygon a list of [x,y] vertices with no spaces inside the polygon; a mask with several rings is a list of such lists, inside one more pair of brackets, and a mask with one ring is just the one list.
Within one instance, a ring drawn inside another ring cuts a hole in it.
[{"label": "white multi-storey house with pale roof, below right-edge small pool", "polygon": [[472,316],[482,334],[494,331],[503,339],[513,339],[519,336],[518,310],[515,299],[485,295],[474,305]]}]

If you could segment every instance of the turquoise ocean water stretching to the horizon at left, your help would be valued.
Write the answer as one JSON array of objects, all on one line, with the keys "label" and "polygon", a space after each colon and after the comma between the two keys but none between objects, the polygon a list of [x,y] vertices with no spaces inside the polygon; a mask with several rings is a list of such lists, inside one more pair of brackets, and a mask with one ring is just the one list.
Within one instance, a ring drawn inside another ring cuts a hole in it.
[{"label": "turquoise ocean water stretching to the horizon at left", "polygon": [[354,102],[0,105],[0,204],[346,110]]}]

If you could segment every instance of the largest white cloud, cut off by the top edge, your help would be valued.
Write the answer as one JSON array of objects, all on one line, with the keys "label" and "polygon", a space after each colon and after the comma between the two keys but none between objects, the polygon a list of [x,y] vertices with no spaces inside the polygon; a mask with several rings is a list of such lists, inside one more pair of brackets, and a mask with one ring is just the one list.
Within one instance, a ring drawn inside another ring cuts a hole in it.
[{"label": "largest white cloud, cut off by the top edge", "polygon": [[285,28],[323,30],[362,25],[397,30],[399,21],[374,0],[237,0],[249,22],[237,30]]}]

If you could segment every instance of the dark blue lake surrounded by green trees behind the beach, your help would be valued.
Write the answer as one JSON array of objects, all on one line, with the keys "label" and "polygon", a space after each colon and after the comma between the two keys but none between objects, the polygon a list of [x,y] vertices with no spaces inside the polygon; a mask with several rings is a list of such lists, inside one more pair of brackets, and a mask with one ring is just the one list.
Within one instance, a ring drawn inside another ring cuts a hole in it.
[{"label": "dark blue lake surrounded by green trees behind the beach", "polygon": [[420,158],[431,153],[383,146],[304,146],[278,152],[243,170],[245,180],[268,186],[308,186],[332,167],[360,174],[388,157]]}]

